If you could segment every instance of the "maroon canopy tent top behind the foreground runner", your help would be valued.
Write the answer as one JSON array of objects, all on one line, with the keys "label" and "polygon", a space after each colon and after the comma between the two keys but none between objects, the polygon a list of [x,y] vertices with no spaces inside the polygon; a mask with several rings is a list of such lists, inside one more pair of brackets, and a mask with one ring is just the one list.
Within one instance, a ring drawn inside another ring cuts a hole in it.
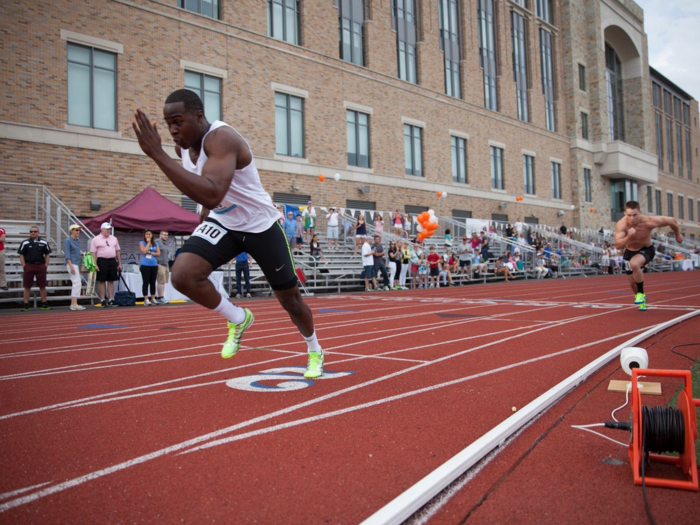
[{"label": "maroon canopy tent top behind the foreground runner", "polygon": [[148,187],[112,211],[83,219],[83,224],[92,232],[98,232],[103,222],[111,223],[118,230],[149,228],[187,234],[199,225],[199,215],[187,211]]}]

